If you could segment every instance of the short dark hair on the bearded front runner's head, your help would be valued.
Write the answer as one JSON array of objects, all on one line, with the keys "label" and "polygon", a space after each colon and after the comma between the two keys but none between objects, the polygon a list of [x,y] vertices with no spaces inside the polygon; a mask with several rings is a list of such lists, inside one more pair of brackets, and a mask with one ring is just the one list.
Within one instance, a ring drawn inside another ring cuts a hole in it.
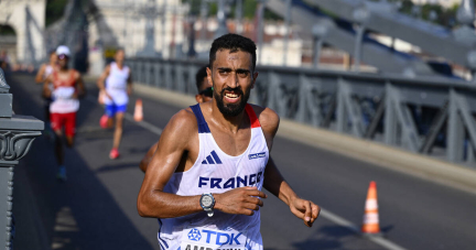
[{"label": "short dark hair on the bearded front runner's head", "polygon": [[216,59],[216,53],[219,50],[230,50],[231,52],[242,51],[251,54],[252,70],[256,67],[256,44],[248,37],[237,34],[226,34],[216,39],[209,53],[209,66],[212,68],[213,62]]}]

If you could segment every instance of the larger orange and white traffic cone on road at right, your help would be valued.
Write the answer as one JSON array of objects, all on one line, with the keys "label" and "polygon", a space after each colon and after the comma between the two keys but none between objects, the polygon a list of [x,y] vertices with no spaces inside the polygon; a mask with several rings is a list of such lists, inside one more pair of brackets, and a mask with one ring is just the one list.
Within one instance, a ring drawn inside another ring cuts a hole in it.
[{"label": "larger orange and white traffic cone on road at right", "polygon": [[377,184],[374,181],[370,182],[369,189],[367,193],[367,200],[366,200],[361,232],[371,233],[371,235],[380,233],[378,203],[377,203]]}]

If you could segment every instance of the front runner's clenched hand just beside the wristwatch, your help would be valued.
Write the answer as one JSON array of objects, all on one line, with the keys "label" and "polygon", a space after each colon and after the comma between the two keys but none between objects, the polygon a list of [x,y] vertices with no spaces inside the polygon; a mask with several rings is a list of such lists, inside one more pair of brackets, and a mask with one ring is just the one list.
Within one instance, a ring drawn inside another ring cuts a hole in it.
[{"label": "front runner's clenched hand just beside the wristwatch", "polygon": [[215,209],[234,215],[255,215],[255,210],[263,206],[263,202],[258,198],[267,198],[267,195],[257,187],[239,187],[227,191],[223,194],[214,194]]}]

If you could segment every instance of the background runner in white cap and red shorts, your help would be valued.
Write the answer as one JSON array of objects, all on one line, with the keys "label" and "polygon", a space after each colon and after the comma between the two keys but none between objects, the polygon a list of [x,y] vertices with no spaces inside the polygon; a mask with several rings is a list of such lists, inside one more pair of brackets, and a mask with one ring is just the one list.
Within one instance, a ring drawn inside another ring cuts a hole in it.
[{"label": "background runner in white cap and red shorts", "polygon": [[[58,69],[46,77],[43,85],[45,98],[52,98],[50,106],[51,127],[55,132],[55,153],[60,165],[57,177],[66,181],[66,167],[64,165],[63,131],[66,145],[72,148],[76,133],[76,112],[79,109],[79,97],[86,94],[80,74],[68,67],[69,48],[61,45],[56,48]],[[53,84],[53,90],[50,88]]]}]

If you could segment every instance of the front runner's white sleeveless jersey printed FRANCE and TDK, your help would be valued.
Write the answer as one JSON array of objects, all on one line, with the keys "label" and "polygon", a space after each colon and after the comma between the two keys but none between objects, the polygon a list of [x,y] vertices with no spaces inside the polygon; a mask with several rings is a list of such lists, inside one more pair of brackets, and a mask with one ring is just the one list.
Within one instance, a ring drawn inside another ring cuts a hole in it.
[{"label": "front runner's white sleeveless jersey printed FRANCE and TDK", "polygon": [[[215,142],[199,105],[191,106],[198,122],[199,153],[191,170],[174,173],[164,192],[181,196],[220,194],[232,188],[256,186],[261,191],[269,151],[259,120],[250,105],[251,140],[238,156],[224,153]],[[159,219],[158,239],[163,250],[262,250],[260,211],[253,216],[215,210],[178,218]]]}]

